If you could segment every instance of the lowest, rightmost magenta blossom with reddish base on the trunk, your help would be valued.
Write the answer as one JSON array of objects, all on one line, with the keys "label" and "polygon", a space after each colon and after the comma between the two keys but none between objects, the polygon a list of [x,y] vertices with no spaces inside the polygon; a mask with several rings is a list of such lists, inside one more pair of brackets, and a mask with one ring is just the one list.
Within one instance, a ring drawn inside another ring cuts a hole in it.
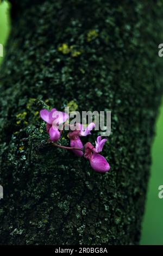
[{"label": "lowest, rightmost magenta blossom with reddish base on the trunk", "polygon": [[96,170],[96,172],[105,173],[110,169],[109,163],[106,161],[105,157],[98,154],[102,151],[106,141],[106,139],[102,139],[101,136],[98,136],[96,148],[94,148],[90,142],[85,144],[84,157],[90,161],[91,167]]}]

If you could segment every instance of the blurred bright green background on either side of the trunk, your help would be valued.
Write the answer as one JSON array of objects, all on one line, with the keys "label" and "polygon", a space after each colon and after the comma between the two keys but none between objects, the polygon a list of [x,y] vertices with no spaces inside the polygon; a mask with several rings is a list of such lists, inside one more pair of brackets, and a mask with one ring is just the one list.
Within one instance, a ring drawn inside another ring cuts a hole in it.
[{"label": "blurred bright green background on either side of the trunk", "polygon": [[[0,44],[5,45],[9,34],[9,5],[0,5]],[[158,42],[158,45],[162,42]],[[4,51],[5,54],[5,51]],[[0,64],[2,62],[0,57]],[[163,245],[163,199],[158,198],[158,187],[163,185],[163,104],[156,124],[156,136],[152,148],[151,178],[148,185],[146,212],[142,225],[141,245]]]}]

